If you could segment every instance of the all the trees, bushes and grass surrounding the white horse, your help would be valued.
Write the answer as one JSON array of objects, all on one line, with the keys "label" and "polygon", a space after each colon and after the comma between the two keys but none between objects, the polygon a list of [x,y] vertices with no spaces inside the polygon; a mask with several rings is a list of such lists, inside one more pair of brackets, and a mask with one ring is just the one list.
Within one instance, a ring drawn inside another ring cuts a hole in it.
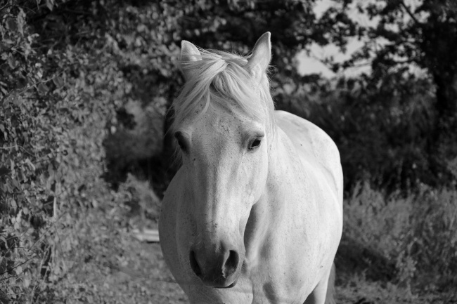
[{"label": "all the trees, bushes and grass surrounding the white horse", "polygon": [[[157,225],[176,170],[162,138],[179,44],[246,53],[267,30],[277,107],[342,155],[340,300],[455,301],[456,7],[377,1],[360,6],[380,18],[370,28],[349,18],[351,2],[317,18],[311,0],[0,0],[0,303],[185,301],[157,247],[131,238]],[[298,74],[297,51],[353,35],[366,46],[335,70],[391,41],[371,74]]]}]

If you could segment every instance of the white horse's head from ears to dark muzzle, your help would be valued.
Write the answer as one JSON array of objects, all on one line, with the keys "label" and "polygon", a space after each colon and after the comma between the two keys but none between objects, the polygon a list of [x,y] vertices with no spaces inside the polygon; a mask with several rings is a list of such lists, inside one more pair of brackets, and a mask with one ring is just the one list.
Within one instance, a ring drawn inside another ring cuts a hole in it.
[{"label": "white horse's head from ears to dark muzzle", "polygon": [[250,57],[181,45],[186,84],[173,105],[172,132],[192,206],[189,265],[207,286],[235,286],[247,220],[266,186],[274,133],[270,58],[269,33]]}]

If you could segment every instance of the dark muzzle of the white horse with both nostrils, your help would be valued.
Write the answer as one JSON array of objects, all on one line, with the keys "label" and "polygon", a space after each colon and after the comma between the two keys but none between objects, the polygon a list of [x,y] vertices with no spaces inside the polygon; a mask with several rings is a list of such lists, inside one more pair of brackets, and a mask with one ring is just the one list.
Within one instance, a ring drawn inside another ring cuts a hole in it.
[{"label": "dark muzzle of the white horse with both nostrils", "polygon": [[194,246],[189,253],[189,260],[193,272],[202,283],[215,288],[235,286],[243,264],[234,246],[224,242],[219,246]]}]

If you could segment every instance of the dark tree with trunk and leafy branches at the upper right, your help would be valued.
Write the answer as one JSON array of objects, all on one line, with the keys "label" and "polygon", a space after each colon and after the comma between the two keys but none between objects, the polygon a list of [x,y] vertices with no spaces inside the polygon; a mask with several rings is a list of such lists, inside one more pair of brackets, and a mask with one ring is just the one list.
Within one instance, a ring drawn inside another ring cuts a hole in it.
[{"label": "dark tree with trunk and leafy branches at the upper right", "polygon": [[[457,6],[453,1],[337,1],[323,16],[345,15],[340,22],[353,27],[363,46],[335,70],[350,67],[363,61],[371,62],[373,75],[409,74],[408,67],[420,67],[432,81],[435,96],[430,121],[431,128],[424,134],[424,156],[429,163],[428,173],[435,179],[432,185],[449,184],[451,176],[447,163],[457,157]],[[349,17],[352,8],[368,15],[372,24],[356,22]],[[348,39],[345,30],[330,32],[330,40]],[[384,77],[385,78],[385,77]],[[388,95],[388,94],[387,94]],[[387,98],[387,96],[386,96]]]}]

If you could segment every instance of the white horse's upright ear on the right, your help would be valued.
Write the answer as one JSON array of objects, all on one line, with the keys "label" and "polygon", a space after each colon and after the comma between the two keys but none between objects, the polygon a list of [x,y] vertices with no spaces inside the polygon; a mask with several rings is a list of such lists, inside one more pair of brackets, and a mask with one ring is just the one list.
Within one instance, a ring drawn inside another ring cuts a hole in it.
[{"label": "white horse's upright ear on the right", "polygon": [[253,77],[265,72],[271,60],[271,34],[266,32],[255,43],[251,57],[247,60],[246,69]]}]

